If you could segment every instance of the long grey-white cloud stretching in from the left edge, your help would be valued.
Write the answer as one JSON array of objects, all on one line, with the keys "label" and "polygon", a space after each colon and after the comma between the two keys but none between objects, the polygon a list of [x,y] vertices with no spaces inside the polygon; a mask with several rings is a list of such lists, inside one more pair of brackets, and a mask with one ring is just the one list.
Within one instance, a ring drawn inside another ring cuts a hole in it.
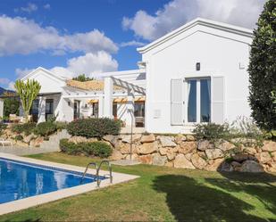
[{"label": "long grey-white cloud stretching in from the left edge", "polygon": [[[19,31],[20,30],[20,31]],[[62,35],[54,27],[41,27],[25,18],[0,16],[0,56],[51,51],[116,53],[118,46],[98,29],[86,33]]]}]

